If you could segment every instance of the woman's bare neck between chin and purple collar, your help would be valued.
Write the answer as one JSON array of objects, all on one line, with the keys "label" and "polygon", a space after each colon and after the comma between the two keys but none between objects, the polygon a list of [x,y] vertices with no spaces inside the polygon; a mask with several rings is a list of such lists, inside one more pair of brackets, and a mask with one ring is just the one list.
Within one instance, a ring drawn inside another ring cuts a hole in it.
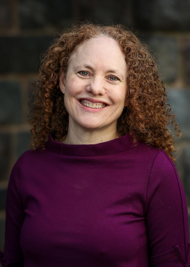
[{"label": "woman's bare neck between chin and purple collar", "polygon": [[69,125],[67,134],[61,139],[62,143],[70,145],[88,145],[107,142],[118,138],[116,125],[106,129],[84,129],[80,126]]}]

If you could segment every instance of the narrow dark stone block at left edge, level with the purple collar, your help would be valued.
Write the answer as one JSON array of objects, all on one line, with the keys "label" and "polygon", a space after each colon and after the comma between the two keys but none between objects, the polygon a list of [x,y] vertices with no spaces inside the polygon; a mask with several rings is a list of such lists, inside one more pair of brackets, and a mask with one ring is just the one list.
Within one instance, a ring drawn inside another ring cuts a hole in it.
[{"label": "narrow dark stone block at left edge, level with the purple collar", "polygon": [[0,133],[0,179],[7,178],[10,158],[10,134]]}]

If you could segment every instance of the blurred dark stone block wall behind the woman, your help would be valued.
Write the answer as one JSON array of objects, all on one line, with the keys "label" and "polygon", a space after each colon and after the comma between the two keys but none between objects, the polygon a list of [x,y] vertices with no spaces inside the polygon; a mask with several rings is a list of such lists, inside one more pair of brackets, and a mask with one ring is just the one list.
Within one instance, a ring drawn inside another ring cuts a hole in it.
[{"label": "blurred dark stone block wall behind the woman", "polygon": [[0,250],[4,246],[6,190],[11,169],[29,150],[31,83],[40,55],[73,22],[116,22],[145,42],[159,64],[172,111],[183,132],[176,167],[190,222],[190,0],[0,1]]}]

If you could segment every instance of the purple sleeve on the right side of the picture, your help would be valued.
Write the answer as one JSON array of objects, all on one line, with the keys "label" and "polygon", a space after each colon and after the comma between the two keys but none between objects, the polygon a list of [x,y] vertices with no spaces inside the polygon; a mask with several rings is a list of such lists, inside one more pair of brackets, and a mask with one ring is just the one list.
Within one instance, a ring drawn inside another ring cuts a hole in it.
[{"label": "purple sleeve on the right side of the picture", "polygon": [[186,197],[176,167],[163,150],[149,176],[146,224],[151,266],[190,266]]}]

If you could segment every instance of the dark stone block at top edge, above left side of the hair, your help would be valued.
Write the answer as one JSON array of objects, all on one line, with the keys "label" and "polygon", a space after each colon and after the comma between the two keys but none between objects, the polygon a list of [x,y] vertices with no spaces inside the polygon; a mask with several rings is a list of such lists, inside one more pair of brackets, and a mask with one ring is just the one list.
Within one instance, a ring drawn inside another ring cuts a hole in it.
[{"label": "dark stone block at top edge, above left side of the hair", "polygon": [[19,0],[21,29],[64,28],[72,18],[72,1]]}]

